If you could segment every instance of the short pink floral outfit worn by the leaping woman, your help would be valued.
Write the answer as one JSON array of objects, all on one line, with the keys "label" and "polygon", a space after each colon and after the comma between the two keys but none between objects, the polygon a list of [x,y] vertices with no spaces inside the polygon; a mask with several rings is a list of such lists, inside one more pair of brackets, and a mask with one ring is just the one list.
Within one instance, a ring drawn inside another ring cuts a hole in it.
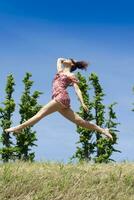
[{"label": "short pink floral outfit worn by the leaping woman", "polygon": [[74,83],[79,83],[79,80],[75,76],[68,76],[62,73],[63,70],[56,73],[52,81],[52,99],[59,102],[63,108],[70,107],[70,98],[66,88],[73,86]]}]

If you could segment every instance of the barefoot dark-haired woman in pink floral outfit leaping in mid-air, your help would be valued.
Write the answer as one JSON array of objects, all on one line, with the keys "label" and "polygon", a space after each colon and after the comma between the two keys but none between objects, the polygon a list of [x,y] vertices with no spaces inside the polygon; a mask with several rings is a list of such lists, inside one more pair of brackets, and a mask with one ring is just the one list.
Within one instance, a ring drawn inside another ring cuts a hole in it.
[{"label": "barefoot dark-haired woman in pink floral outfit leaping in mid-air", "polygon": [[[27,126],[34,125],[43,117],[58,111],[65,118],[69,119],[76,125],[87,128],[89,130],[96,130],[99,133],[102,133],[113,140],[112,135],[109,132],[108,128],[101,128],[100,126],[94,124],[93,122],[86,121],[81,118],[77,113],[75,113],[70,106],[70,98],[66,88],[68,86],[74,86],[76,94],[83,106],[83,109],[87,112],[88,107],[85,105],[81,90],[79,89],[78,83],[79,80],[75,76],[73,71],[76,69],[86,69],[88,63],[85,61],[77,61],[72,58],[58,58],[57,59],[57,73],[52,81],[52,99],[44,105],[39,112],[36,113],[33,117],[25,121],[24,123],[5,129],[5,132],[19,132],[21,129],[24,129]],[[64,67],[64,68],[63,68]]]}]

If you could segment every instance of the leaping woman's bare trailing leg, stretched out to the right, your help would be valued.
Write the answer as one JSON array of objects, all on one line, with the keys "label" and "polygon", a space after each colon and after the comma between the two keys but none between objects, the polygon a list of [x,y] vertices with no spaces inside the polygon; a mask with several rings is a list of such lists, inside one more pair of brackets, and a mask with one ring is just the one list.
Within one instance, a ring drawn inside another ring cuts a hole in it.
[{"label": "leaping woman's bare trailing leg, stretched out to the right", "polygon": [[108,129],[103,129],[100,126],[94,124],[93,122],[90,121],[86,121],[84,119],[82,119],[77,113],[75,113],[71,108],[67,108],[67,109],[60,109],[58,111],[61,115],[63,115],[65,118],[69,119],[70,121],[72,121],[73,123],[87,128],[89,130],[96,130],[106,136],[108,136],[109,138],[113,139],[112,135],[109,133]]}]

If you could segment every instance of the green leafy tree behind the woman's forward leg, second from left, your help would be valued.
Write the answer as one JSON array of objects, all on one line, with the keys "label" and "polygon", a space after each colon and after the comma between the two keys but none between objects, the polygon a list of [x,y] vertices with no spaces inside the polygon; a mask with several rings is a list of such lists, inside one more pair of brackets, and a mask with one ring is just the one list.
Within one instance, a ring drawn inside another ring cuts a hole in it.
[{"label": "green leafy tree behind the woman's forward leg, second from left", "polygon": [[[43,94],[39,91],[34,91],[31,95],[30,90],[34,83],[34,81],[30,80],[31,73],[26,73],[23,83],[24,83],[24,92],[21,96],[21,100],[19,103],[20,110],[19,113],[21,115],[20,124],[27,121],[31,117],[33,117],[40,109],[41,105],[37,103],[37,99],[40,94]],[[19,149],[16,157],[22,160],[30,160],[33,161],[35,154],[31,151],[32,146],[37,146],[34,142],[37,141],[36,132],[32,131],[33,126],[26,127],[20,131],[20,133],[16,134],[16,147]]]}]

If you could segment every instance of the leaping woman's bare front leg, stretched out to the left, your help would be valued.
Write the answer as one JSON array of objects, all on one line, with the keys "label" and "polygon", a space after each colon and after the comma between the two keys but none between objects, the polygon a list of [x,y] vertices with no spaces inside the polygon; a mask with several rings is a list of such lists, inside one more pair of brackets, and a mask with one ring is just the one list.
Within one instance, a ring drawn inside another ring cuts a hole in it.
[{"label": "leaping woman's bare front leg, stretched out to the left", "polygon": [[11,127],[8,129],[5,129],[6,132],[19,132],[21,129],[30,126],[30,125],[34,125],[35,123],[37,123],[39,120],[41,120],[43,117],[58,111],[60,108],[60,105],[58,102],[56,102],[54,99],[52,99],[49,103],[47,103],[45,106],[43,106],[39,112],[36,113],[36,115],[34,115],[33,117],[31,117],[30,119],[28,119],[27,121],[25,121],[24,123],[15,126],[15,127]]}]

